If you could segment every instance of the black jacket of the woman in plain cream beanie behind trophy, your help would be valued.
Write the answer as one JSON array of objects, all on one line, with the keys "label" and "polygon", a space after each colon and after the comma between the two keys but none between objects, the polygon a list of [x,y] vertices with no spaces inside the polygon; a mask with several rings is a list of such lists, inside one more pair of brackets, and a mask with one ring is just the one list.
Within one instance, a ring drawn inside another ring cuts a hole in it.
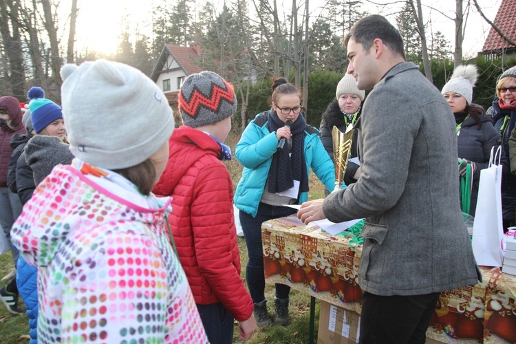
[{"label": "black jacket of the woman in plain cream beanie behind trophy", "polygon": [[[361,109],[358,110],[358,118],[360,118]],[[338,130],[344,132],[348,125],[350,125],[351,121],[347,120],[341,108],[338,107],[338,100],[334,99],[330,105],[328,105],[326,111],[324,112],[321,118],[321,126],[319,131],[321,131],[321,142],[323,142],[324,149],[326,149],[327,153],[332,158],[332,161],[335,162],[333,156],[333,138],[332,138],[332,129],[333,126],[336,126]],[[356,144],[356,138],[358,137],[358,131],[355,129],[353,133],[353,142],[351,147],[351,155],[350,158],[356,158],[358,156],[358,146]],[[358,164],[354,162],[347,162],[346,171],[344,173],[344,182],[346,185],[350,185],[356,182],[356,179],[353,178],[356,170],[358,169]]]}]

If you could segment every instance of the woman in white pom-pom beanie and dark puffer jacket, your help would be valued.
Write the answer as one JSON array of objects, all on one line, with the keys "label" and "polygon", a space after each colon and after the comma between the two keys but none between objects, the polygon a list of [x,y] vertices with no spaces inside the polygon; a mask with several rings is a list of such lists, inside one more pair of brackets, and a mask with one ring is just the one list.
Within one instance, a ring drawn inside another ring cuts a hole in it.
[{"label": "woman in white pom-pom beanie and dark puffer jacket", "polygon": [[472,103],[477,78],[475,65],[460,65],[441,91],[455,117],[460,175],[466,175],[468,164],[471,168],[472,216],[477,208],[480,170],[488,167],[491,149],[500,144],[500,134],[493,127],[491,116],[486,116],[482,106]]}]

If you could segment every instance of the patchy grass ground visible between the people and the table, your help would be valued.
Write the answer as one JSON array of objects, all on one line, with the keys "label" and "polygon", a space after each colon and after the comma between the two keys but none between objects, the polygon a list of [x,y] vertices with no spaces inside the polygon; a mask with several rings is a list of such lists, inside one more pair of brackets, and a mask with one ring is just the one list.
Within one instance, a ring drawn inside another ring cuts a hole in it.
[{"label": "patchy grass ground visible between the people and the table", "polygon": [[[235,152],[235,144],[239,140],[239,135],[230,134],[226,140],[233,153]],[[236,188],[241,176],[241,165],[236,160],[226,162],[226,166],[230,171],[233,184]],[[324,188],[321,182],[316,179],[313,173],[310,173],[310,199],[324,197]],[[241,276],[245,281],[245,266],[247,264],[247,248],[244,238],[239,238],[240,259],[242,266]],[[10,253],[0,255],[0,277],[5,276],[13,267]],[[8,281],[1,281],[0,288],[6,286]],[[274,303],[274,285],[266,285],[266,298],[272,302],[269,303],[269,310],[273,310]],[[234,343],[309,343],[309,325],[310,325],[310,296],[292,290],[290,292],[290,316],[292,321],[288,326],[272,325],[270,327],[259,328],[248,342],[239,341],[238,330],[235,326]],[[315,313],[315,338],[317,338],[317,328],[319,324],[319,302],[316,303]],[[3,304],[0,303],[0,343],[28,343],[29,325],[28,318],[23,315],[14,316],[10,314]]]}]

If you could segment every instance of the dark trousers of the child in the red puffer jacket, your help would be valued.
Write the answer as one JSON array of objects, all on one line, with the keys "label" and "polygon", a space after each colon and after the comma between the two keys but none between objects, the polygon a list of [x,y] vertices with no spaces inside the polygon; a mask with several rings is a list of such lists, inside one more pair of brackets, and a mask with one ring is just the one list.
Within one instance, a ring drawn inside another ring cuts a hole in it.
[{"label": "dark trousers of the child in the red puffer jacket", "polygon": [[204,331],[211,344],[233,343],[233,326],[235,319],[233,314],[228,312],[222,303],[212,305],[199,305],[197,310],[201,316]]}]

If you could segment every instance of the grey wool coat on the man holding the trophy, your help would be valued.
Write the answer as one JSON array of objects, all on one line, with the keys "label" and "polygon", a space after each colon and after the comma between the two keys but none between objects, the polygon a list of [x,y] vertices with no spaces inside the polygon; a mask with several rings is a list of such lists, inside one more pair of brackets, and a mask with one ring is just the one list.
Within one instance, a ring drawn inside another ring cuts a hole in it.
[{"label": "grey wool coat on the man holding the trophy", "polygon": [[361,178],[325,198],[332,222],[365,217],[358,284],[377,295],[452,290],[482,280],[459,201],[457,133],[449,105],[413,63],[365,100]]}]

